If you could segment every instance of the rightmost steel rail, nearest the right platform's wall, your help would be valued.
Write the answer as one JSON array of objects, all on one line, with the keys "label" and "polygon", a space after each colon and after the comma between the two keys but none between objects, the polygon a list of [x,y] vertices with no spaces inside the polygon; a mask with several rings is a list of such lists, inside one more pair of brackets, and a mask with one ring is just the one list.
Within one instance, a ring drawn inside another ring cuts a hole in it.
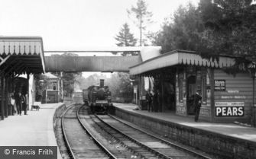
[{"label": "rightmost steel rail, nearest the right platform's wall", "polygon": [[[108,115],[111,116],[113,119],[118,120],[118,122],[122,122],[120,119],[116,118],[115,116],[112,116],[112,115],[110,115],[110,114],[108,114]],[[157,138],[158,140],[160,140],[161,142],[164,142],[164,143],[167,144],[167,145],[174,146],[175,148],[178,148],[178,149],[180,149],[180,150],[186,151],[186,152],[188,152],[188,153],[190,153],[190,154],[195,154],[195,155],[197,155],[197,156],[199,156],[199,157],[202,157],[202,158],[205,158],[205,159],[212,159],[211,157],[207,157],[207,156],[205,156],[205,155],[203,155],[203,154],[199,154],[199,153],[196,152],[196,151],[190,150],[190,149],[188,149],[188,148],[184,148],[183,146],[180,146],[180,145],[177,145],[177,144],[175,144],[175,143],[173,143],[173,142],[169,142],[169,141],[167,141],[167,140],[164,140],[164,138],[160,138],[160,137],[158,137],[158,136],[156,136],[156,135],[153,135],[153,134],[151,134],[151,133],[149,133],[149,132],[145,132],[145,131],[142,130],[142,129],[135,128],[134,126],[131,126],[131,125],[125,123],[125,122],[122,122],[122,123],[125,124],[125,126],[129,126],[129,127],[131,127],[132,129],[136,129],[136,130],[138,130],[138,131],[140,131],[140,132],[143,132],[143,133],[145,133],[145,134],[147,134],[147,135],[150,135],[152,138]]]}]

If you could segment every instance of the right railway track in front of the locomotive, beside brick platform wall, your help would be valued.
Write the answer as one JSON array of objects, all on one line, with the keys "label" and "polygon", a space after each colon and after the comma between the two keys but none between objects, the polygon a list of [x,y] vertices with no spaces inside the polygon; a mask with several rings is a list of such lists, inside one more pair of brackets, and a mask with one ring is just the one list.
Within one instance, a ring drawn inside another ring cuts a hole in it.
[{"label": "right railway track in front of the locomotive, beside brick platform wall", "polygon": [[142,158],[206,158],[203,154],[167,142],[157,136],[148,134],[109,115],[91,116],[105,132],[113,135],[119,142]]}]

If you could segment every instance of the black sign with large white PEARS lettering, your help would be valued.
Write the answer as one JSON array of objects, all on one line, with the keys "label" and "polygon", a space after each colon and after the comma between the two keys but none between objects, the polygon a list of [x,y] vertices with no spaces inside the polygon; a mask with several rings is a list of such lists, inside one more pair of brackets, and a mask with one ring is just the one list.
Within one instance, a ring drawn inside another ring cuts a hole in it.
[{"label": "black sign with large white PEARS lettering", "polygon": [[216,116],[244,116],[245,102],[215,102]]}]

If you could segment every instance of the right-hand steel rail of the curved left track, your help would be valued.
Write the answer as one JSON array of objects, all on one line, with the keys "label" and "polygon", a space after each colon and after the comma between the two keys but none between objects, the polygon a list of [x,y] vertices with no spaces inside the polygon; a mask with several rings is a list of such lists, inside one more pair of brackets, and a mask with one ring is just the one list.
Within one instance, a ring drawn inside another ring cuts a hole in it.
[{"label": "right-hand steel rail of the curved left track", "polygon": [[79,117],[79,110],[80,110],[82,107],[83,107],[83,106],[80,106],[79,109],[78,109],[77,112],[76,112],[76,116],[77,116],[77,119],[79,120],[80,125],[83,127],[83,129],[86,131],[86,133],[93,139],[93,141],[96,143],[96,145],[98,145],[99,148],[101,148],[102,151],[105,152],[105,154],[107,154],[107,155],[108,155],[110,158],[112,158],[112,159],[117,159],[117,157],[115,157],[114,154],[112,154],[107,148],[105,148],[105,146],[102,145],[102,144],[99,142],[99,140],[97,140],[97,138],[92,135],[91,132],[89,132],[89,129],[87,129],[86,126],[84,126],[83,122],[81,121],[81,118]]}]

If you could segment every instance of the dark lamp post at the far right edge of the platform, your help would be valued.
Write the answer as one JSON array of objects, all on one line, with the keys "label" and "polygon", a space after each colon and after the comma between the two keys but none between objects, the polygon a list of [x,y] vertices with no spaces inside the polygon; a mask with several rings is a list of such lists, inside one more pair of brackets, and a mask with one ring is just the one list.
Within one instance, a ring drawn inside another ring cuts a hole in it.
[{"label": "dark lamp post at the far right edge of the platform", "polygon": [[251,125],[255,127],[255,114],[254,114],[254,89],[255,89],[255,77],[256,77],[256,63],[251,62],[251,64],[248,67],[248,70],[251,74],[252,78],[252,107],[251,107],[251,113],[252,113],[252,122]]}]

